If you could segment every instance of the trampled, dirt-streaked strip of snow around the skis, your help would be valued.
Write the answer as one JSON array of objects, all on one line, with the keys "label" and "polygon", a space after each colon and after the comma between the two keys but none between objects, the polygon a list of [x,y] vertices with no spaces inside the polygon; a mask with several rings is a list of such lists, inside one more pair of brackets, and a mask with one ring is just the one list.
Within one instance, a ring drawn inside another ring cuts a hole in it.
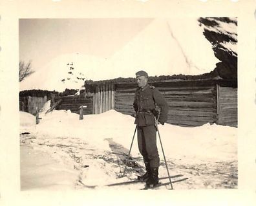
[{"label": "trampled, dirt-streaked strip of snow around the skis", "polygon": [[[111,151],[93,147],[80,138],[21,135],[21,145],[32,145],[34,149],[47,152],[55,161],[65,164],[77,173],[74,189],[106,189],[104,185],[133,180],[142,173],[142,167],[127,167],[127,177],[117,179],[123,172],[125,154],[128,149],[107,140]],[[144,165],[142,158],[135,158]],[[39,160],[41,161],[41,160]],[[208,162],[205,164],[184,164],[179,160],[167,159],[171,175],[183,174],[189,178],[174,184],[175,189],[225,189],[237,188],[237,162]],[[58,171],[56,171],[58,173]],[[161,160],[160,176],[166,176],[165,164]],[[63,175],[63,174],[62,174]],[[47,180],[45,180],[47,181]],[[167,180],[165,180],[166,182]],[[23,180],[21,179],[21,182]],[[111,187],[111,189],[140,189],[142,184]],[[41,189],[44,185],[41,185]],[[59,189],[65,187],[59,185]],[[162,187],[161,187],[162,188]],[[162,189],[166,189],[163,187]]]}]

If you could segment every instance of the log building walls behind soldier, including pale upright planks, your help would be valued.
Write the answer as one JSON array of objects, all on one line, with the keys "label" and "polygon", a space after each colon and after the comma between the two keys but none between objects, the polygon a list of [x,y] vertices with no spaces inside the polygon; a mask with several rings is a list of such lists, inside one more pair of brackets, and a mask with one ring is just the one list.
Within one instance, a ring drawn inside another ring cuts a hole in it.
[{"label": "log building walls behind soldier, including pale upright planks", "polygon": [[[178,126],[221,124],[237,127],[237,82],[233,80],[165,80],[151,82],[169,105],[167,123]],[[92,93],[91,113],[115,109],[134,115],[135,82],[100,81],[87,84]]]}]

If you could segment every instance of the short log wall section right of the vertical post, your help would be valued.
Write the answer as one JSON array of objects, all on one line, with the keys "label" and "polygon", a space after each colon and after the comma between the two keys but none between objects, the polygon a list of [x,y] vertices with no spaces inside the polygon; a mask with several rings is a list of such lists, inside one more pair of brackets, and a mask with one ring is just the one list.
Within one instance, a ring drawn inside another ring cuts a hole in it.
[{"label": "short log wall section right of the vertical post", "polygon": [[237,88],[217,85],[217,124],[237,127]]}]

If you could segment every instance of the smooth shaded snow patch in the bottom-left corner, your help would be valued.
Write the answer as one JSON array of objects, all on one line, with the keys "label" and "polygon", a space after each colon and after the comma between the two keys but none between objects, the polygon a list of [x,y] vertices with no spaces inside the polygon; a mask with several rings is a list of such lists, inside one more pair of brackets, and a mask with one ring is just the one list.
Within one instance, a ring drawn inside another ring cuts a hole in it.
[{"label": "smooth shaded snow patch in the bottom-left corner", "polygon": [[78,171],[67,168],[50,154],[21,145],[21,190],[73,189]]}]

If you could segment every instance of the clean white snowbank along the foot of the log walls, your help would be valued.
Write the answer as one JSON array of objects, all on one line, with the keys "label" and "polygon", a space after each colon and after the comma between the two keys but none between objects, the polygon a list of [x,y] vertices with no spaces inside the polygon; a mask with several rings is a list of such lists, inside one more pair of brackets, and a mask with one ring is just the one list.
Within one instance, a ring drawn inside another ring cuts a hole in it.
[{"label": "clean white snowbank along the foot of the log walls", "polygon": [[[110,151],[107,140],[129,149],[135,125],[134,118],[111,110],[100,115],[79,115],[70,111],[53,111],[45,115],[38,125],[34,116],[21,112],[21,126],[34,126],[34,132],[50,136],[82,138],[98,149]],[[200,127],[179,127],[171,124],[159,125],[165,154],[168,158],[184,162],[214,162],[237,159],[237,128],[205,124]],[[157,137],[158,138],[158,137]],[[158,141],[158,150],[160,154]],[[140,156],[136,138],[133,156]]]}]

